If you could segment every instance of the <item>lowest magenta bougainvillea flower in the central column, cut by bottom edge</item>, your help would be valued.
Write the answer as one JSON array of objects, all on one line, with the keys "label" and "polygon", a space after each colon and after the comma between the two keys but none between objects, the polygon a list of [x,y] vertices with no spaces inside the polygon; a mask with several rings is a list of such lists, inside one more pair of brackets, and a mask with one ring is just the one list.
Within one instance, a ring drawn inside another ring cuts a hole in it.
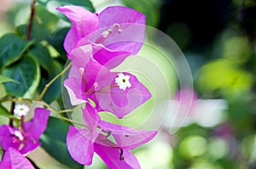
[{"label": "lowest magenta bougainvillea flower in the central column, cut by bottom edge", "polygon": [[[84,165],[91,164],[93,154],[96,152],[109,168],[118,168],[117,166],[120,166],[119,168],[123,168],[121,166],[133,168],[133,165],[137,166],[134,168],[139,168],[136,157],[129,150],[147,143],[157,133],[156,131],[132,129],[102,121],[96,109],[90,104],[85,105],[83,120],[88,128],[69,128],[67,149],[75,161]],[[108,139],[109,136],[113,136],[115,143]],[[109,152],[108,149],[110,149]],[[107,152],[109,155],[106,155]],[[109,158],[113,159],[110,160]]]}]

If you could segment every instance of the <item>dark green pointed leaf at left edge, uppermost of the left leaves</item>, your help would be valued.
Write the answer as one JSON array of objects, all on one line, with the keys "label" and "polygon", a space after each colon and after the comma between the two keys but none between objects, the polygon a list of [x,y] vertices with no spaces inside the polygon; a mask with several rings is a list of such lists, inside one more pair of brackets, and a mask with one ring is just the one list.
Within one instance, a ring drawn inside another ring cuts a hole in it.
[{"label": "dark green pointed leaf at left edge, uppermost of the left leaves", "polygon": [[31,45],[14,33],[5,34],[0,38],[0,67],[13,64]]}]

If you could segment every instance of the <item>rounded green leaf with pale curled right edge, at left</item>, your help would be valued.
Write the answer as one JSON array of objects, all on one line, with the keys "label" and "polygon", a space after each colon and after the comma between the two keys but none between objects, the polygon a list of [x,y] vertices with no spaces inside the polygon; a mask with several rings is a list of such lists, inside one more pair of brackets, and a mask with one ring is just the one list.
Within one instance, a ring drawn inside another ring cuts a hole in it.
[{"label": "rounded green leaf with pale curled right edge, at left", "polygon": [[15,95],[16,97],[32,97],[36,91],[40,81],[40,69],[38,63],[25,56],[20,62],[15,63],[8,68],[3,70],[3,76],[8,76],[14,79],[16,82],[5,82],[4,86],[6,91]]}]

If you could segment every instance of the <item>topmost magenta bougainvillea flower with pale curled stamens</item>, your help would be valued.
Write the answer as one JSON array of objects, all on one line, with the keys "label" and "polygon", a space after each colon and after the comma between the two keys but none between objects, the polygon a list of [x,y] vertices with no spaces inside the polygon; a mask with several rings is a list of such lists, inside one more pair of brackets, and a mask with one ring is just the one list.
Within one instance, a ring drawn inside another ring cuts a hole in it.
[{"label": "topmost magenta bougainvillea flower with pale curled stamens", "polygon": [[113,68],[127,56],[137,54],[143,45],[145,16],[134,9],[108,7],[100,14],[90,13],[79,6],[57,9],[73,24],[64,42],[67,56],[73,48],[91,44],[93,58]]}]

